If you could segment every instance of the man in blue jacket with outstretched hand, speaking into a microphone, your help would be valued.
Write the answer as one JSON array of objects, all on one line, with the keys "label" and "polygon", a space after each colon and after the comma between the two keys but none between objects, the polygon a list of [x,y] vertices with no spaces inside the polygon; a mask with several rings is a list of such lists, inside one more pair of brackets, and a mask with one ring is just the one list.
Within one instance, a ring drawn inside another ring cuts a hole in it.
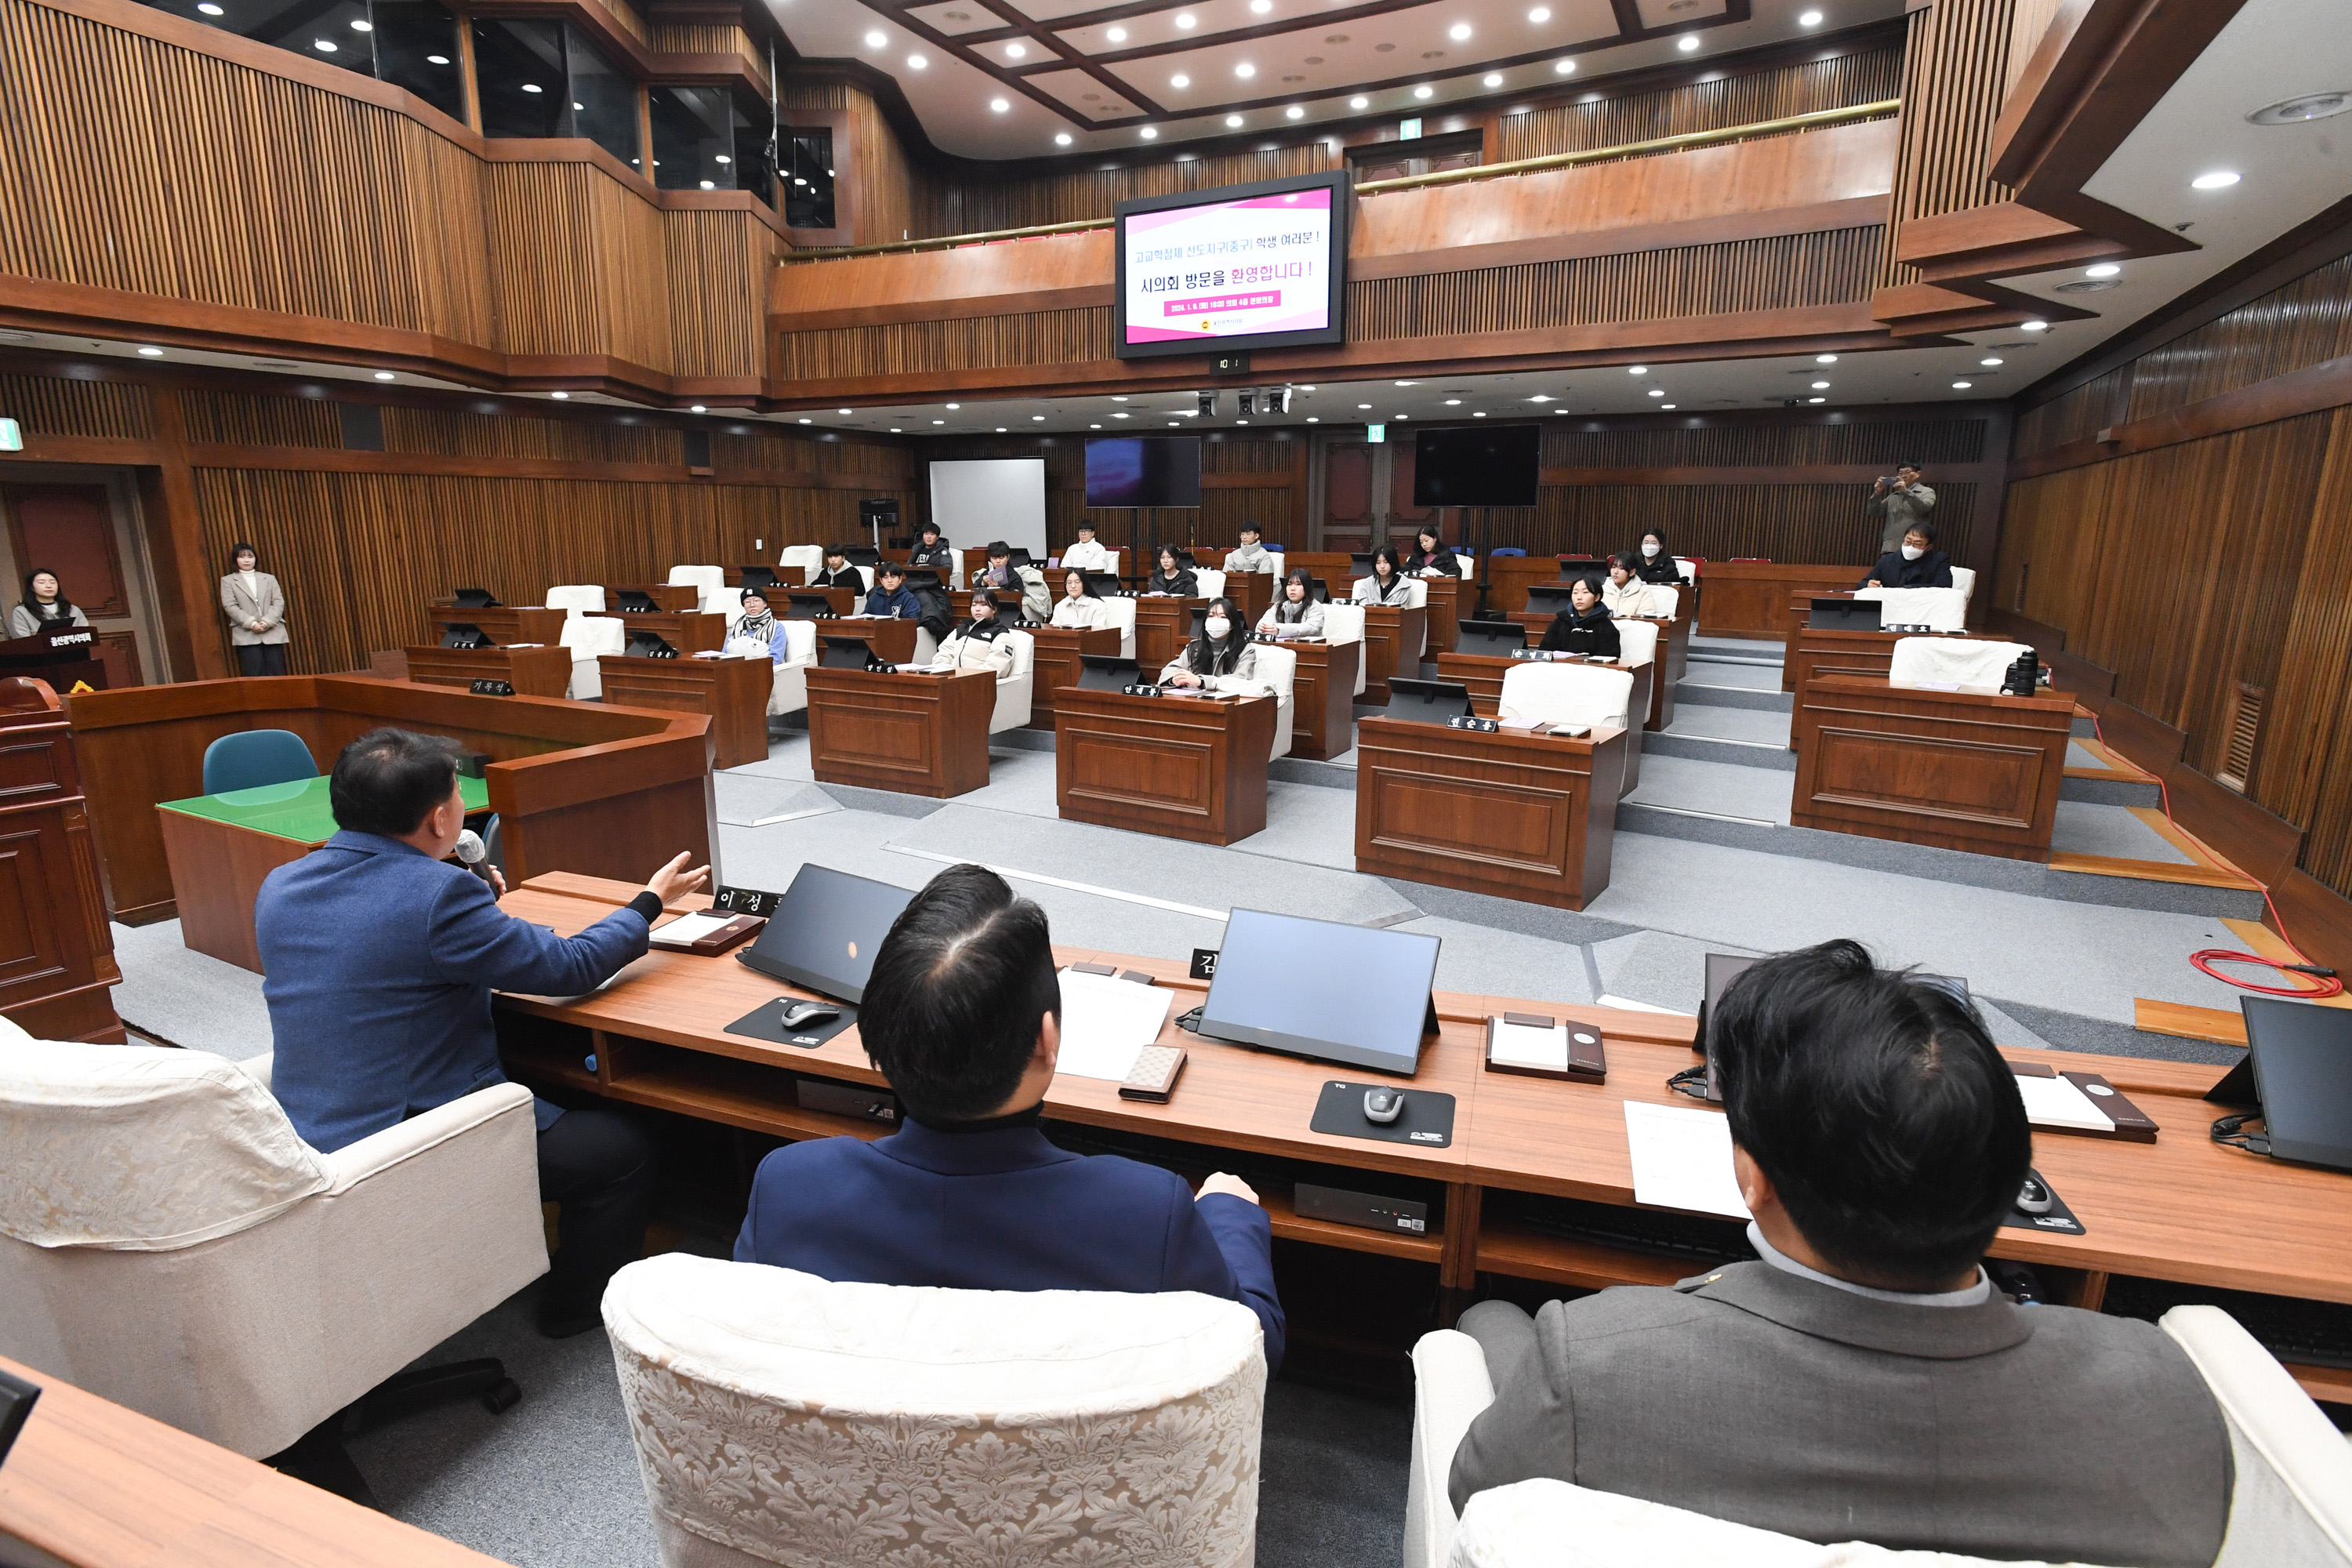
[{"label": "man in blue jacket with outstretched hand, speaking into a microphone", "polygon": [[[503,1084],[489,992],[574,997],[644,954],[661,905],[710,867],[677,856],[623,910],[562,938],[510,919],[487,882],[447,856],[466,827],[456,743],[379,729],[343,748],[329,802],[341,832],[261,884],[261,994],[270,1088],[303,1143],[341,1150],[369,1133]],[[644,1251],[654,1147],[607,1110],[536,1103],[539,1192],[562,1206],[539,1326],[597,1324],[604,1281]]]}]

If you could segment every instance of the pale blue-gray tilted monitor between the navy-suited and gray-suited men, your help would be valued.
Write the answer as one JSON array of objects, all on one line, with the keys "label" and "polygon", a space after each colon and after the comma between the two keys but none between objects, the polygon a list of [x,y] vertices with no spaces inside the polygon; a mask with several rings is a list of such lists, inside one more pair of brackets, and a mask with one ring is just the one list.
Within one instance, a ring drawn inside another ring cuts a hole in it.
[{"label": "pale blue-gray tilted monitor between the navy-suited and gray-suited men", "polygon": [[1200,1034],[1411,1077],[1435,980],[1435,936],[1235,910]]}]

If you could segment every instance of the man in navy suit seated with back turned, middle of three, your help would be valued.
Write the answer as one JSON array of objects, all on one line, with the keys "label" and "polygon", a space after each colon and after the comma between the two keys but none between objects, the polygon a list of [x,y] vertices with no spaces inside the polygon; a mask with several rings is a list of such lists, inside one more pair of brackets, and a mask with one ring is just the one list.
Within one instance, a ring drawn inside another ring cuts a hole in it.
[{"label": "man in navy suit seated with back turned, middle of three", "polygon": [[1256,1312],[1265,1366],[1282,1366],[1256,1192],[1211,1175],[1195,1197],[1171,1171],[1037,1131],[1061,1051],[1044,910],[981,865],[934,877],[875,952],[858,1034],[906,1121],[762,1159],[736,1262],[960,1291],[1200,1291]]}]

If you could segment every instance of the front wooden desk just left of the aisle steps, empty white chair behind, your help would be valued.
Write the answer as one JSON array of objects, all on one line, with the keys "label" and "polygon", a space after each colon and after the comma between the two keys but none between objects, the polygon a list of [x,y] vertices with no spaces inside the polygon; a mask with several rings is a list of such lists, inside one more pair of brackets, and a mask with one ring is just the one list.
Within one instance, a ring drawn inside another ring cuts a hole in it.
[{"label": "front wooden desk just left of the aisle steps, empty white chair behind", "polygon": [[1609,886],[1623,729],[1477,733],[1355,726],[1355,870],[1583,910]]}]

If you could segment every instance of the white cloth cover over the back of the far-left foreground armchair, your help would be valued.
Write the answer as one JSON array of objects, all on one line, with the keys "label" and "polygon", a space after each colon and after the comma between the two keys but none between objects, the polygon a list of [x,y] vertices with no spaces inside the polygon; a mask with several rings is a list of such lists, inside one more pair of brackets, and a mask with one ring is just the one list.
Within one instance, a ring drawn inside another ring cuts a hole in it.
[{"label": "white cloth cover over the back of the far-left foreground armchair", "polygon": [[0,1234],[167,1253],[325,1192],[320,1154],[226,1056],[0,1039]]}]

